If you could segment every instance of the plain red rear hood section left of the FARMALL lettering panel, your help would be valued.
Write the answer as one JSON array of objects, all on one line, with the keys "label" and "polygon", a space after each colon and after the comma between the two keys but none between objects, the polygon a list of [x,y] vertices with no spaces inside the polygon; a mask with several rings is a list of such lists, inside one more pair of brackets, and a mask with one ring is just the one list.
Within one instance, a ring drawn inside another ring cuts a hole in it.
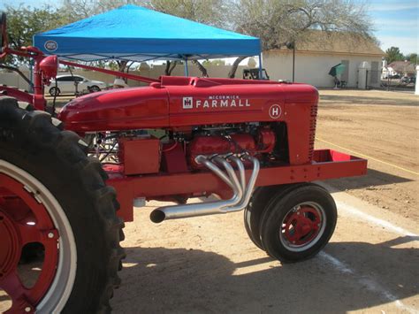
[{"label": "plain red rear hood section left of the FARMALL lettering panel", "polygon": [[121,88],[81,96],[58,115],[67,130],[117,131],[169,126],[169,101],[164,88]]}]

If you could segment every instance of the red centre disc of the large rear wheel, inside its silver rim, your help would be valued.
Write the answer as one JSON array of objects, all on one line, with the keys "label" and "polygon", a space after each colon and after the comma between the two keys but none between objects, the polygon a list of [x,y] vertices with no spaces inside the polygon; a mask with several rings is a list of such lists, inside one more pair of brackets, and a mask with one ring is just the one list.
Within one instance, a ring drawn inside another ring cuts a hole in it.
[{"label": "red centre disc of the large rear wheel, inside its silver rim", "polygon": [[[0,287],[11,297],[6,313],[33,312],[49,290],[58,263],[58,231],[46,207],[18,180],[0,173]],[[33,287],[19,279],[23,247],[39,242],[44,247],[42,270]]]}]

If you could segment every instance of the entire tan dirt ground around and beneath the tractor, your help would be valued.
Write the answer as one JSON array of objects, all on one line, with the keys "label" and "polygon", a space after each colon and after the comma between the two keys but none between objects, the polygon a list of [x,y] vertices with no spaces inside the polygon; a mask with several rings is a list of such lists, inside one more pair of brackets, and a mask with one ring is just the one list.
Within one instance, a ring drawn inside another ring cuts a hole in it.
[{"label": "entire tan dirt ground around and beneath the tractor", "polygon": [[369,156],[368,175],[325,182],[339,220],[324,251],[281,264],[241,212],[156,225],[150,202],[126,224],[115,313],[419,313],[419,96],[320,95],[316,148]]}]

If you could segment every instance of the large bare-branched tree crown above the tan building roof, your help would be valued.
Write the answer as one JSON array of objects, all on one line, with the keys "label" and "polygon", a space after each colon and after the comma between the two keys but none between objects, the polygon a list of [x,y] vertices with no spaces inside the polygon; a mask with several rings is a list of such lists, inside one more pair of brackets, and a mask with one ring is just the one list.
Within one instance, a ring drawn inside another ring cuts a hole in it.
[{"label": "large bare-branched tree crown above the tan building roof", "polygon": [[[290,42],[298,46],[310,30],[373,38],[366,8],[354,0],[230,0],[230,4],[234,29],[259,37],[263,50],[281,49]],[[234,61],[229,77],[235,76],[244,58]]]}]

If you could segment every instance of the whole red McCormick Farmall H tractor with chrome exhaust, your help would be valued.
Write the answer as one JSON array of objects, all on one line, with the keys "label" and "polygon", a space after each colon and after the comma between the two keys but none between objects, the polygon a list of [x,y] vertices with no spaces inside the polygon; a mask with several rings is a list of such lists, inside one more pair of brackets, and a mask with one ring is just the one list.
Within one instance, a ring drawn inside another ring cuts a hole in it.
[{"label": "whole red McCormick Farmall H tractor with chrome exhaust", "polygon": [[[10,313],[109,311],[123,219],[144,200],[176,203],[152,211],[155,223],[244,211],[249,238],[270,257],[313,257],[337,211],[309,182],[366,172],[366,160],[314,149],[318,93],[305,84],[117,73],[149,86],[81,96],[55,117],[44,86],[58,62],[91,67],[11,50],[4,16],[2,26],[0,57],[34,59],[34,94],[0,87],[0,287]],[[34,256],[42,264],[28,282]]]}]

